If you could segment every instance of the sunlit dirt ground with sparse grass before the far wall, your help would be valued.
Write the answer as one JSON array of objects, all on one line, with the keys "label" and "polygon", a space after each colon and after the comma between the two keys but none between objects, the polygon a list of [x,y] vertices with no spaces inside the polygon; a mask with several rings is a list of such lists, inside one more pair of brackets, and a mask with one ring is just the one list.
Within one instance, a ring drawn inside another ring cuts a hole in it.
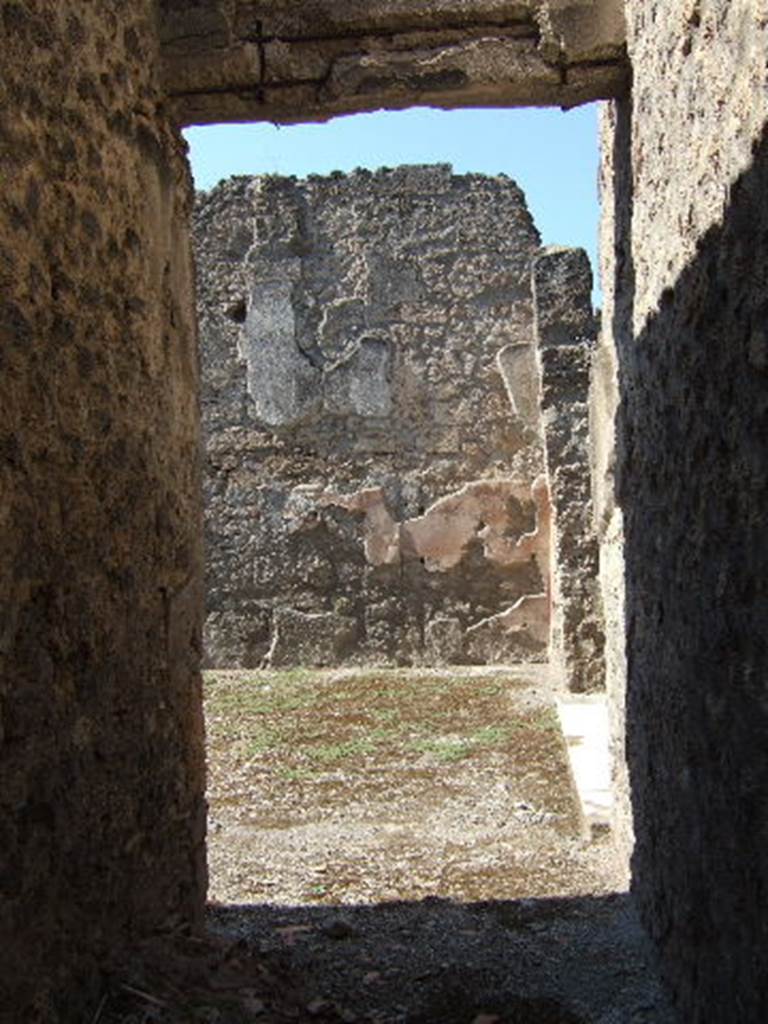
[{"label": "sunlit dirt ground with sparse grass before the far wall", "polygon": [[541,666],[210,673],[210,896],[352,904],[611,892]]}]

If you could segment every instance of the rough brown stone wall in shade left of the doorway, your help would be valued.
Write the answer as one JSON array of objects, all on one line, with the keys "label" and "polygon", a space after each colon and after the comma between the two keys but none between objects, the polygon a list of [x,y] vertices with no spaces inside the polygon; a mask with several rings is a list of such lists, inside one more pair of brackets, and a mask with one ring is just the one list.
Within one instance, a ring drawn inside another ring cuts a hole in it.
[{"label": "rough brown stone wall in shade left of the doorway", "polygon": [[0,3],[0,1018],[202,906],[187,172],[152,5]]}]

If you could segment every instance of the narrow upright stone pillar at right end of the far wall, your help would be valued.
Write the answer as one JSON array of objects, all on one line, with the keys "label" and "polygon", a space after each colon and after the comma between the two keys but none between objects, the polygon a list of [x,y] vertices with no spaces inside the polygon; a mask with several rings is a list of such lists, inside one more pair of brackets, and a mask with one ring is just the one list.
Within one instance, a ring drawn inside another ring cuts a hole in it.
[{"label": "narrow upright stone pillar at right end of the far wall", "polygon": [[605,681],[598,544],[590,467],[590,362],[597,322],[583,249],[551,247],[534,261],[536,339],[546,468],[552,496],[551,657],[568,688]]}]

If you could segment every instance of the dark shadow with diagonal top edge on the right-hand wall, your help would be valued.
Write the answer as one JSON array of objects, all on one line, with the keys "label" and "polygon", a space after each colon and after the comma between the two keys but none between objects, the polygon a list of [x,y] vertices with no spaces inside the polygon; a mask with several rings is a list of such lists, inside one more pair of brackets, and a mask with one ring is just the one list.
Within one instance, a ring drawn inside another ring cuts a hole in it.
[{"label": "dark shadow with diagonal top edge on the right-hand wall", "polygon": [[[630,152],[618,205],[631,217]],[[722,222],[635,338],[625,255],[615,331],[634,890],[684,1019],[746,1024],[768,1019],[765,134]]]}]

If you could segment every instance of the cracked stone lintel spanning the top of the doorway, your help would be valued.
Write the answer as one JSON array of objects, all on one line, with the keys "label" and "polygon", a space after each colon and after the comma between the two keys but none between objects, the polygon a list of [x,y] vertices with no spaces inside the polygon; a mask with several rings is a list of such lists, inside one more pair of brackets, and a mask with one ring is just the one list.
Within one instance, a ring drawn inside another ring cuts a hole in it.
[{"label": "cracked stone lintel spanning the top of the doorway", "polygon": [[627,87],[620,0],[160,0],[159,13],[184,124],[572,106]]}]

